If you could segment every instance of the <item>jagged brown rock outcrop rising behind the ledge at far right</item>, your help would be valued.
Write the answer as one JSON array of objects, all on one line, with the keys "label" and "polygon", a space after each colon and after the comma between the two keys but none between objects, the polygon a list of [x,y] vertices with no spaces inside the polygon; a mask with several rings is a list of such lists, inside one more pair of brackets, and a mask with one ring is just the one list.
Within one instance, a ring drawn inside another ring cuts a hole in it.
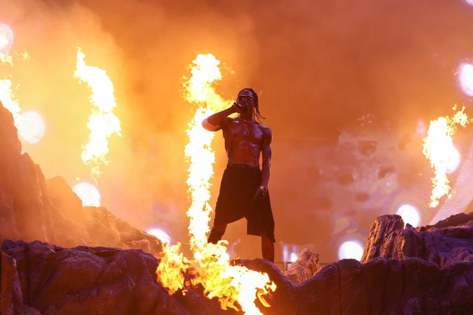
[{"label": "jagged brown rock outcrop rising behind the ledge at far right", "polygon": [[376,218],[361,262],[375,257],[418,257],[440,268],[473,261],[473,213],[454,215],[431,226],[407,225],[404,229],[397,215]]}]

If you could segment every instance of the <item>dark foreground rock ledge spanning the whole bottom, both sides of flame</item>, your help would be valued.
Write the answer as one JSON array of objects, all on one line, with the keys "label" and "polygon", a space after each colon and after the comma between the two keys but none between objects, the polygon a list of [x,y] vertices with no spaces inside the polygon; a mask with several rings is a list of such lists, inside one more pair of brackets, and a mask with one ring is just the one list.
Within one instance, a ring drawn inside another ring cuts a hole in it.
[{"label": "dark foreground rock ledge spanning the whole bottom, both sides of flame", "polygon": [[[236,314],[199,290],[169,296],[156,283],[158,260],[139,250],[5,240],[1,251],[1,314]],[[439,269],[419,258],[343,259],[301,284],[267,260],[238,262],[276,283],[271,307],[257,303],[265,315],[473,313],[473,262]]]}]

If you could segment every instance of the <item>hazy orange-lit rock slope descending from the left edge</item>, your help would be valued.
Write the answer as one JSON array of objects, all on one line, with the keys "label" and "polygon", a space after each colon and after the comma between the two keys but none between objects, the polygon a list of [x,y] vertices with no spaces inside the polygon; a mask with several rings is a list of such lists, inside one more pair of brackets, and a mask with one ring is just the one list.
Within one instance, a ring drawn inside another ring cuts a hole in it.
[{"label": "hazy orange-lit rock slope descending from the left edge", "polygon": [[105,208],[82,207],[64,178],[46,180],[21,143],[13,117],[0,103],[0,242],[4,239],[141,249],[161,245]]}]

